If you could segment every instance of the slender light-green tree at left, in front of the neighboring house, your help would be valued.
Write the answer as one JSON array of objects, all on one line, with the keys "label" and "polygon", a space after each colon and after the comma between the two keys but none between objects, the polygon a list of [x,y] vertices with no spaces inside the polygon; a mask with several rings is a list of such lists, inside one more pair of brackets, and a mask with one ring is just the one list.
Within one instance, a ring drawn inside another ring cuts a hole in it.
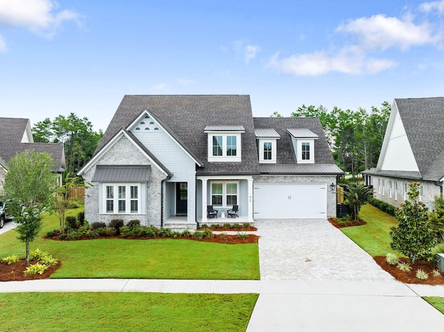
[{"label": "slender light-green tree at left, in front of the neighboring house", "polygon": [[10,199],[9,208],[17,223],[17,239],[29,245],[42,228],[42,212],[50,207],[57,189],[57,175],[52,173],[54,161],[46,152],[26,150],[8,163],[3,190]]}]

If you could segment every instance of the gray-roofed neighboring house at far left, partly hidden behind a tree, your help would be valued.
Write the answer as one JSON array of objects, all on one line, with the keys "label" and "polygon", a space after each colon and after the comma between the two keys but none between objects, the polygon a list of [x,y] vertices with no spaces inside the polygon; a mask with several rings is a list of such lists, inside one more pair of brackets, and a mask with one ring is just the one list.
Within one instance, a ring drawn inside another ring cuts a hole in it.
[{"label": "gray-roofed neighboring house at far left, partly hidden behind a tree", "polygon": [[7,172],[6,164],[15,155],[24,150],[48,152],[56,165],[55,173],[60,173],[58,183],[62,183],[65,171],[65,149],[62,143],[34,143],[29,119],[0,118],[0,193],[3,191],[3,180]]}]

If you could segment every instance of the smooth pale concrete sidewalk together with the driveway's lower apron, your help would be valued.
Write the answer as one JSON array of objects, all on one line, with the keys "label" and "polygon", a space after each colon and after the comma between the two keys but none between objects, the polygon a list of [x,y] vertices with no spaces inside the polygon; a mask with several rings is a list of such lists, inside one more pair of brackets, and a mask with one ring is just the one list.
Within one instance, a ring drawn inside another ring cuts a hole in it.
[{"label": "smooth pale concrete sidewalk together with the driveway's lower apron", "polygon": [[438,331],[444,315],[421,296],[444,286],[398,281],[41,279],[0,283],[0,292],[259,293],[247,332]]}]

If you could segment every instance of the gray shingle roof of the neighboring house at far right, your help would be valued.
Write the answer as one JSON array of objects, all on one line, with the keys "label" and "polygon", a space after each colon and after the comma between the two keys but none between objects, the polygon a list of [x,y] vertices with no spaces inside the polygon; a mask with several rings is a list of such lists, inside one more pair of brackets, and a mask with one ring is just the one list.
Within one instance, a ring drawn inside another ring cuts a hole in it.
[{"label": "gray shingle roof of the neighboring house at far right", "polygon": [[444,175],[444,98],[395,99],[424,180]]}]

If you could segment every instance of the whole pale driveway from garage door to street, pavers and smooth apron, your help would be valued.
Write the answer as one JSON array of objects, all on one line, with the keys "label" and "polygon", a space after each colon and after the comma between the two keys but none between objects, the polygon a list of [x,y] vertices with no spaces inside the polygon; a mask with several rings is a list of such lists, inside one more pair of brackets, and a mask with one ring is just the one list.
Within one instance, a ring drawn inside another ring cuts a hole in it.
[{"label": "whole pale driveway from garage door to street, pavers and smooth apron", "polygon": [[444,315],[414,288],[395,281],[327,220],[255,220],[255,226],[261,290],[247,332],[438,331],[444,325]]}]

